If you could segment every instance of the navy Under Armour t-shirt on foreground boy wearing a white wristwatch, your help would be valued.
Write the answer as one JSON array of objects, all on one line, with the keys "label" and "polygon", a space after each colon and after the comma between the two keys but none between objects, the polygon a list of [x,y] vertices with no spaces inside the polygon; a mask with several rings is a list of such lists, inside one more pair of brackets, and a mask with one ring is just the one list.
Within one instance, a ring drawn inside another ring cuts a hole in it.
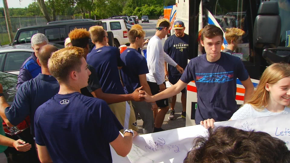
[{"label": "navy Under Armour t-shirt on foreground boy wearing a white wristwatch", "polygon": [[36,143],[53,162],[112,162],[109,143],[123,127],[104,100],[56,94],[35,112]]}]

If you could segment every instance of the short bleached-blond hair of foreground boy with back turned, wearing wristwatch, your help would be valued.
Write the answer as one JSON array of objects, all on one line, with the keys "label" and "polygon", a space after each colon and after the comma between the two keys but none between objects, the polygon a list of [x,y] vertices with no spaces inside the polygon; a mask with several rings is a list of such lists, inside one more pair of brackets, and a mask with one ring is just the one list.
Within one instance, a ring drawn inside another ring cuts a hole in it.
[{"label": "short bleached-blond hair of foreground boy with back turned, wearing wristwatch", "polygon": [[60,49],[52,53],[48,61],[49,72],[59,83],[66,83],[71,71],[80,71],[83,55],[82,48],[72,46]]}]

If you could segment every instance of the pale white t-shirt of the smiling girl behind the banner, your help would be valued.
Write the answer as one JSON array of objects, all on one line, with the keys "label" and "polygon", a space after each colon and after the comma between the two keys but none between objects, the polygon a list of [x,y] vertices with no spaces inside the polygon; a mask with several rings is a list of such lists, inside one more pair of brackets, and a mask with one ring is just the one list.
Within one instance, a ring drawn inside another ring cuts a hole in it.
[{"label": "pale white t-shirt of the smiling girl behind the banner", "polygon": [[231,120],[266,117],[266,116],[271,116],[271,115],[281,115],[281,114],[289,114],[289,113],[290,113],[290,108],[287,106],[285,106],[284,110],[281,112],[270,112],[266,108],[258,111],[254,109],[254,107],[251,104],[245,104],[243,107],[241,107],[239,110],[237,110],[233,114],[233,116],[231,117]]}]

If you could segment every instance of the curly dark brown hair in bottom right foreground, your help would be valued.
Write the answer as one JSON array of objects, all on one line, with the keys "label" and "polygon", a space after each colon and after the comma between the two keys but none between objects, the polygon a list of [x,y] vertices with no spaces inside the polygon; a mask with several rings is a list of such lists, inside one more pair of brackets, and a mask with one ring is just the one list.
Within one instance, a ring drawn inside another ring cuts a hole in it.
[{"label": "curly dark brown hair in bottom right foreground", "polygon": [[209,129],[208,137],[197,137],[184,163],[286,163],[290,151],[284,141],[266,132],[233,127]]}]

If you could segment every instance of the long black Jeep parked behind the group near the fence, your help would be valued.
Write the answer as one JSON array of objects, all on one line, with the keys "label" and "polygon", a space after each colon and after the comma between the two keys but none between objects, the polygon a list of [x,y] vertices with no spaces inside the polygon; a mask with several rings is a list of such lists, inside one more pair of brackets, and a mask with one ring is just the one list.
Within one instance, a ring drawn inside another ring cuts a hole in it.
[{"label": "long black Jeep parked behind the group near the fence", "polygon": [[[71,30],[74,28],[86,28],[86,30],[89,30],[91,26],[102,26],[102,22],[99,20],[83,21],[82,19],[78,19],[71,21],[67,20],[66,22],[54,21],[46,25],[24,27],[18,29],[16,32],[13,45],[31,43],[31,37],[36,33],[43,33],[50,43],[64,45],[64,41]],[[92,46],[94,45],[92,45],[90,41],[90,47]]]}]

